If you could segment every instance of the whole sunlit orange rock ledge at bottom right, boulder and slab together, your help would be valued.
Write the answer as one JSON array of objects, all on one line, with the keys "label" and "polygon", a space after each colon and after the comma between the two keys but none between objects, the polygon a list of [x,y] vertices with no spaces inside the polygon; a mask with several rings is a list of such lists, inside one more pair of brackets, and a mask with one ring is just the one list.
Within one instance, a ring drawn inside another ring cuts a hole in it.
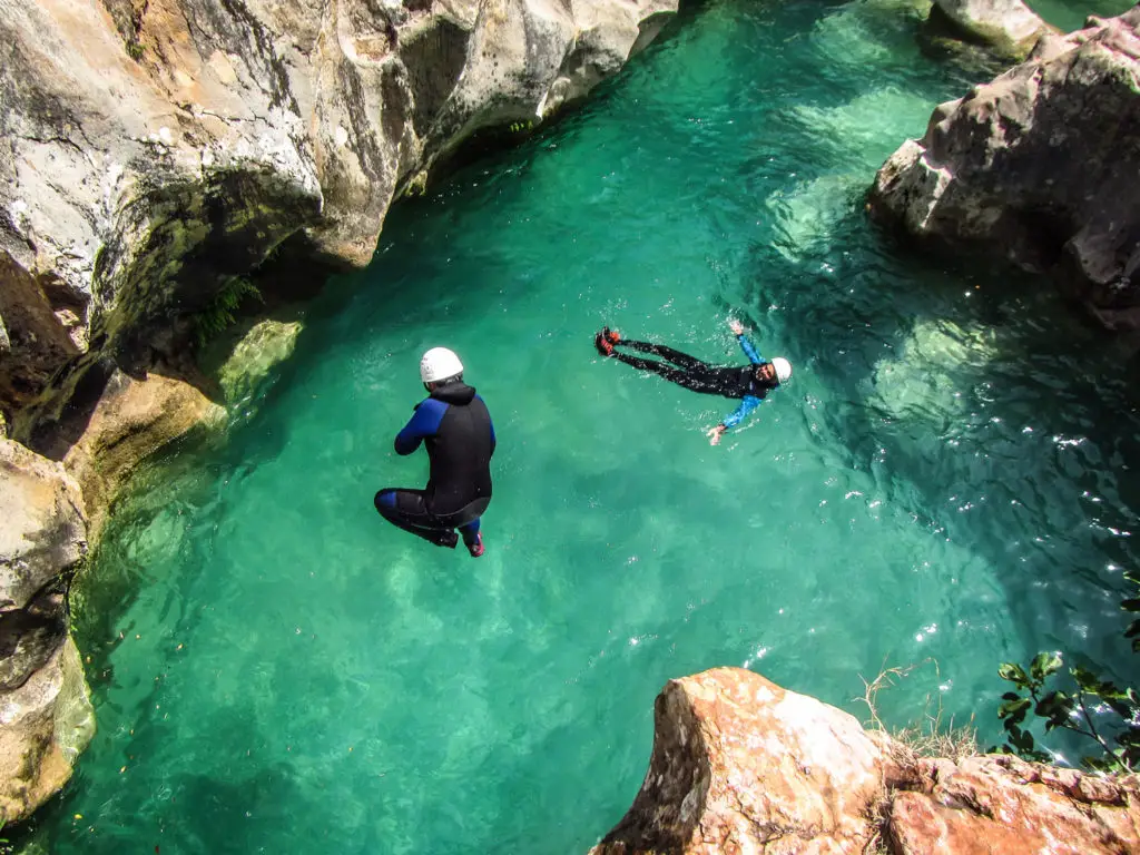
[{"label": "whole sunlit orange rock ledge at bottom right, boulder and slab together", "polygon": [[670,681],[629,813],[589,855],[1140,852],[1140,776],[917,758],[758,674]]}]

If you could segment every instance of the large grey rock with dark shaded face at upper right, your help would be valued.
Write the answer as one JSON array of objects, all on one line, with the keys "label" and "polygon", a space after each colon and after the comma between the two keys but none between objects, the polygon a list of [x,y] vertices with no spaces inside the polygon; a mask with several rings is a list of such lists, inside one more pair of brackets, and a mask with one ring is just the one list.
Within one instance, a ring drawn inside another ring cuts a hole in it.
[{"label": "large grey rock with dark shaded face at upper right", "polygon": [[912,235],[1048,274],[1109,326],[1140,325],[1140,8],[940,105],[876,177]]}]

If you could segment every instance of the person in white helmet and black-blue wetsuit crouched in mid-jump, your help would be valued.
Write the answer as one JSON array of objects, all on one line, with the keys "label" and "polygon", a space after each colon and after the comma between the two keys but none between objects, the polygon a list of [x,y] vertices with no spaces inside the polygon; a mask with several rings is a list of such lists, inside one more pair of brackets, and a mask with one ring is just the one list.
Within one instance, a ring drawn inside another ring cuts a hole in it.
[{"label": "person in white helmet and black-blue wetsuit crouched in mid-jump", "polygon": [[[437,546],[463,543],[472,557],[483,554],[479,518],[491,500],[490,459],[495,426],[483,399],[463,382],[463,364],[447,348],[432,348],[420,360],[427,398],[415,406],[396,437],[396,453],[408,455],[424,443],[431,470],[423,490],[385,488],[376,494],[380,515]],[[458,529],[458,532],[456,532]]]}]

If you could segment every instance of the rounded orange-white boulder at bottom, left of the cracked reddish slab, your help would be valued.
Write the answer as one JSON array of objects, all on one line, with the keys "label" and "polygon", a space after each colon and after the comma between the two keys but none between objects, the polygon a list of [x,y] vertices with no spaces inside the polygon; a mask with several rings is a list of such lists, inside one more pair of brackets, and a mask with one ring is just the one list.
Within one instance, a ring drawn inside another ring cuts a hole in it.
[{"label": "rounded orange-white boulder at bottom, left of the cracked reddish slab", "polygon": [[758,674],[666,684],[649,772],[592,855],[847,853],[878,836],[893,762],[854,716]]}]

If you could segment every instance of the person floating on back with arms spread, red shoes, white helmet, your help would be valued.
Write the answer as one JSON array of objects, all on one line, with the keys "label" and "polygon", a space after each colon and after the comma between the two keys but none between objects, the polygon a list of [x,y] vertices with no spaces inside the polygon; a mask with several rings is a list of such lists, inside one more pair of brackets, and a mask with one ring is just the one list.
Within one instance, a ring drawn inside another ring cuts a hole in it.
[{"label": "person floating on back with arms spread, red shoes, white helmet", "polygon": [[[782,383],[787,383],[791,377],[791,363],[783,357],[776,357],[772,361],[762,357],[756,350],[756,345],[744,335],[744,327],[741,326],[740,321],[730,320],[728,328],[736,336],[736,341],[740,342],[740,347],[751,365],[741,368],[709,365],[663,344],[622,339],[609,327],[602,327],[602,332],[594,336],[594,345],[602,356],[613,357],[641,370],[660,374],[666,380],[694,392],[740,398],[740,406],[736,407],[736,410],[720,424],[714,425],[706,432],[709,442],[715,446],[720,442],[725,431],[743,422],[749,413],[760,406],[760,401],[768,392]],[[628,356],[619,352],[617,348],[632,348],[642,353],[662,357],[667,361]]]}]

